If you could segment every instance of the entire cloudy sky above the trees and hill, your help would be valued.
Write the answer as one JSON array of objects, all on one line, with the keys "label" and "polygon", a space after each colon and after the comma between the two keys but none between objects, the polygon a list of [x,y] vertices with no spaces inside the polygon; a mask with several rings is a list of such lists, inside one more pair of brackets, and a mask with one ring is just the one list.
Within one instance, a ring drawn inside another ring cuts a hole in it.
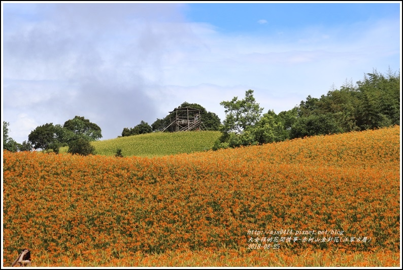
[{"label": "entire cloudy sky above the trees and hill", "polygon": [[2,120],[19,143],[79,115],[121,135],[183,102],[254,90],[263,112],[289,110],[373,69],[401,66],[400,2],[2,2]]}]

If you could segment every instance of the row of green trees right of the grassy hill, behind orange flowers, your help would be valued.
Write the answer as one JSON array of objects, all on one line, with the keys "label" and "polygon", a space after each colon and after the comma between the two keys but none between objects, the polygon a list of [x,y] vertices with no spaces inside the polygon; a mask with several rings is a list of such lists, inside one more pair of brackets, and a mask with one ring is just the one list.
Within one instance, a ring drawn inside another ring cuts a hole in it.
[{"label": "row of green trees right of the grassy hill, behind orange flowers", "polygon": [[269,110],[261,115],[253,90],[242,100],[220,104],[226,118],[213,149],[400,125],[400,73],[389,70],[385,76],[374,70],[355,86],[345,83],[320,98],[308,96],[279,114]]}]

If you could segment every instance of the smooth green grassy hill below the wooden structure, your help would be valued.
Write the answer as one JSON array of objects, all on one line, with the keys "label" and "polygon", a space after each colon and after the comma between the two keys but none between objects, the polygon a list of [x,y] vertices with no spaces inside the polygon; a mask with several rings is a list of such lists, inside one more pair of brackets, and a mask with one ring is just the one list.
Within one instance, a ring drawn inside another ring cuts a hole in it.
[{"label": "smooth green grassy hill below the wooden structure", "polygon": [[[124,157],[169,156],[209,150],[220,137],[219,131],[155,132],[91,142],[95,155],[114,156],[117,149]],[[60,148],[66,152],[68,147]]]}]

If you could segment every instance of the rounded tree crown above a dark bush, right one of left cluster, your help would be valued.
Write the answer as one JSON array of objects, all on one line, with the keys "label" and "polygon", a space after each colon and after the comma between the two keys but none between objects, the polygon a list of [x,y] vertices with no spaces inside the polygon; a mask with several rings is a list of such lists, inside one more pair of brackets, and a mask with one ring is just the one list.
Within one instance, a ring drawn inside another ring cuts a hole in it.
[{"label": "rounded tree crown above a dark bush, right one of left cluster", "polygon": [[99,126],[91,123],[84,117],[76,116],[73,119],[64,122],[63,128],[73,132],[75,138],[80,136],[89,141],[95,141],[102,138],[101,129]]}]

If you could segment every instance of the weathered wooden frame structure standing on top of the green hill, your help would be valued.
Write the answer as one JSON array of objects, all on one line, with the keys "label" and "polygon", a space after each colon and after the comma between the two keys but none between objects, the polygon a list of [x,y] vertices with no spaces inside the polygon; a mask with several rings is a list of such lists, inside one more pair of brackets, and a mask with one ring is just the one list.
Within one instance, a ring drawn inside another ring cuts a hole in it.
[{"label": "weathered wooden frame structure standing on top of the green hill", "polygon": [[175,108],[169,113],[175,113],[174,117],[170,116],[170,124],[167,125],[162,131],[169,130],[176,131],[189,131],[189,130],[206,130],[205,125],[200,117],[200,110],[191,107]]}]

